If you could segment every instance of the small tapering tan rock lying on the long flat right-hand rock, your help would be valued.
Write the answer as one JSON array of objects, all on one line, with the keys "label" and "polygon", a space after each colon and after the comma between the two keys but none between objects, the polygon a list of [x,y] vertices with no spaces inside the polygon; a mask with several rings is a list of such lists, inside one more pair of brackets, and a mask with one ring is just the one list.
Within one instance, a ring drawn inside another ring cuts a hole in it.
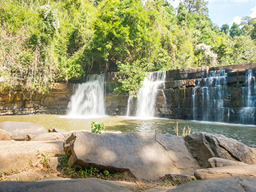
[{"label": "small tapering tan rock lying on the long flat right-hand rock", "polygon": [[218,157],[212,157],[208,159],[208,164],[210,168],[214,167],[223,167],[223,166],[240,166],[240,165],[247,165],[245,163],[242,163],[240,161],[232,161],[228,159],[222,159]]}]

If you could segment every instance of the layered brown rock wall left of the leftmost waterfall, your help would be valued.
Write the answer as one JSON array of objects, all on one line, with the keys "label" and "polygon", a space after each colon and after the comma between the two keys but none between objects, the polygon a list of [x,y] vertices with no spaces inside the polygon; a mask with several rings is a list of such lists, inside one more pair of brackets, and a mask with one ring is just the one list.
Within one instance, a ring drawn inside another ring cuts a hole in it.
[{"label": "layered brown rock wall left of the leftmost waterfall", "polygon": [[6,114],[65,114],[73,83],[55,82],[49,94],[27,92],[0,92],[0,115]]}]

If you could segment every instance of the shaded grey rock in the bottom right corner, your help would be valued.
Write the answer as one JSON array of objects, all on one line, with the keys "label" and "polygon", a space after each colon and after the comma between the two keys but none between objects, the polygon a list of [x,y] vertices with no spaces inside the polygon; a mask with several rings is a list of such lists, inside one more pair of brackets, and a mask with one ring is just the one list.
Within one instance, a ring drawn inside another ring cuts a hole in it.
[{"label": "shaded grey rock in the bottom right corner", "polygon": [[230,178],[215,178],[200,181],[190,181],[183,186],[176,187],[168,192],[255,192],[256,178],[247,177],[230,177]]}]

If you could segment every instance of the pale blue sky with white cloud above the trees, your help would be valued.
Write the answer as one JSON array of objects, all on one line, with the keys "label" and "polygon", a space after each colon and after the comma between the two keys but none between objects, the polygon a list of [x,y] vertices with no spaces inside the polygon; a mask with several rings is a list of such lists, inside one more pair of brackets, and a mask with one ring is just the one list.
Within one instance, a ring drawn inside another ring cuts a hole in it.
[{"label": "pale blue sky with white cloud above the trees", "polygon": [[[180,0],[171,2],[177,7]],[[256,0],[206,0],[210,20],[222,26],[228,23],[232,26],[233,22],[240,24],[240,19],[244,16],[256,18]]]}]

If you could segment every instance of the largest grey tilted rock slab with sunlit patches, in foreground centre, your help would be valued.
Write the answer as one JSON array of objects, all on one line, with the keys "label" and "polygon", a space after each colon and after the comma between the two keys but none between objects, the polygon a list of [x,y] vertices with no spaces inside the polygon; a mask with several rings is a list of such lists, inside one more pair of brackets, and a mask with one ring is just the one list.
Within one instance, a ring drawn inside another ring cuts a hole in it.
[{"label": "largest grey tilted rock slab with sunlit patches, in foreground centre", "polygon": [[64,151],[70,166],[127,170],[144,180],[170,173],[193,175],[200,169],[183,137],[171,134],[74,132],[65,140]]}]

